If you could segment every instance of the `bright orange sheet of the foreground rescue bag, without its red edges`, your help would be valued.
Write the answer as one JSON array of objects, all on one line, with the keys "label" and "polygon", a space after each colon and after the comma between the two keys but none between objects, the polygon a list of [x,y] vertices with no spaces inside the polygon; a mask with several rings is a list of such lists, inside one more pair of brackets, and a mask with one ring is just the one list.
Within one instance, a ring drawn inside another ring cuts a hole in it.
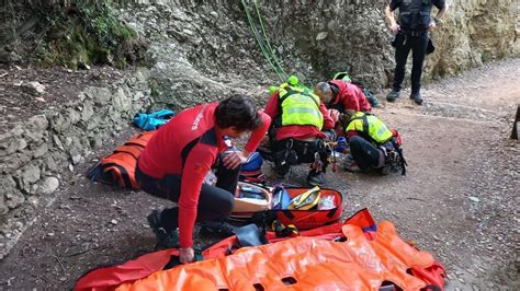
[{"label": "bright orange sheet of the foreground rescue bag, without its red edges", "polygon": [[120,286],[116,290],[377,290],[391,281],[404,290],[427,283],[407,270],[427,268],[433,257],[404,242],[394,224],[381,222],[375,240],[361,228],[342,228],[346,242],[294,237],[244,247]]}]

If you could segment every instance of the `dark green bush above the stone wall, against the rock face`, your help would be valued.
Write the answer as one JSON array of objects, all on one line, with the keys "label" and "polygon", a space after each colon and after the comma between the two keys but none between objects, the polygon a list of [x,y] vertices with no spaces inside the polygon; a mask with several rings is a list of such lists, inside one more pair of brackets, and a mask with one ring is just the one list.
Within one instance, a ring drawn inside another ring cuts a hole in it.
[{"label": "dark green bush above the stone wall, against the rock face", "polygon": [[43,11],[47,39],[39,60],[78,68],[106,63],[125,68],[142,61],[146,45],[134,30],[120,21],[110,0],[77,0],[69,10]]}]

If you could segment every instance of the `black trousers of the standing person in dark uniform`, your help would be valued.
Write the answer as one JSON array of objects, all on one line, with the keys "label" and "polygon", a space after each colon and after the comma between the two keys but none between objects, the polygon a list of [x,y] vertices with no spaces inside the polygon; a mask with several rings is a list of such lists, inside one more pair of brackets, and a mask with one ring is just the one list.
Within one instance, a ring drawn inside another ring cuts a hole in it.
[{"label": "black trousers of the standing person in dark uniform", "polygon": [[411,50],[411,93],[420,91],[420,78],[422,75],[422,65],[428,47],[428,32],[418,35],[399,32],[395,39],[395,77],[394,91],[400,91],[405,79],[406,60]]}]

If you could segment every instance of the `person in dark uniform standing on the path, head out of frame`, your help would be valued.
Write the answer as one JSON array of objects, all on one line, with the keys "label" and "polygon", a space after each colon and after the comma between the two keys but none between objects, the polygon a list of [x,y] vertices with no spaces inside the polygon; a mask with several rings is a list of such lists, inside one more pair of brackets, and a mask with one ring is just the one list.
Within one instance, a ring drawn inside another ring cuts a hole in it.
[{"label": "person in dark uniform standing on the path, head out of frame", "polygon": [[[437,7],[437,15],[431,18],[431,8]],[[398,22],[395,21],[394,11],[399,9]],[[394,102],[399,97],[403,80],[405,79],[405,66],[411,50],[411,94],[410,98],[417,104],[422,104],[420,95],[420,78],[422,63],[425,61],[429,34],[440,19],[445,14],[448,4],[444,0],[391,0],[386,7],[386,18],[391,23],[392,34],[395,35],[395,77],[394,88],[386,100]]]}]

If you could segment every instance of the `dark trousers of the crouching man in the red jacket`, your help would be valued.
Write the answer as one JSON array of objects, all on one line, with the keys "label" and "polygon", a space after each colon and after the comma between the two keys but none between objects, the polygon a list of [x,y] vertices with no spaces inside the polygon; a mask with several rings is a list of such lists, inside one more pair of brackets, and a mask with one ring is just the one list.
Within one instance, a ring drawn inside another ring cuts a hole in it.
[{"label": "dark trousers of the crouching man in the red jacket", "polygon": [[[240,167],[228,170],[222,162],[218,162],[215,173],[217,176],[216,186],[202,184],[196,222],[225,220],[229,216],[235,201],[234,194],[237,189],[239,172]],[[136,179],[144,191],[174,202],[179,201],[181,175],[166,175],[158,179],[143,173],[137,165]],[[177,229],[179,226],[179,208],[165,209],[161,213],[161,222],[167,231]]]}]

